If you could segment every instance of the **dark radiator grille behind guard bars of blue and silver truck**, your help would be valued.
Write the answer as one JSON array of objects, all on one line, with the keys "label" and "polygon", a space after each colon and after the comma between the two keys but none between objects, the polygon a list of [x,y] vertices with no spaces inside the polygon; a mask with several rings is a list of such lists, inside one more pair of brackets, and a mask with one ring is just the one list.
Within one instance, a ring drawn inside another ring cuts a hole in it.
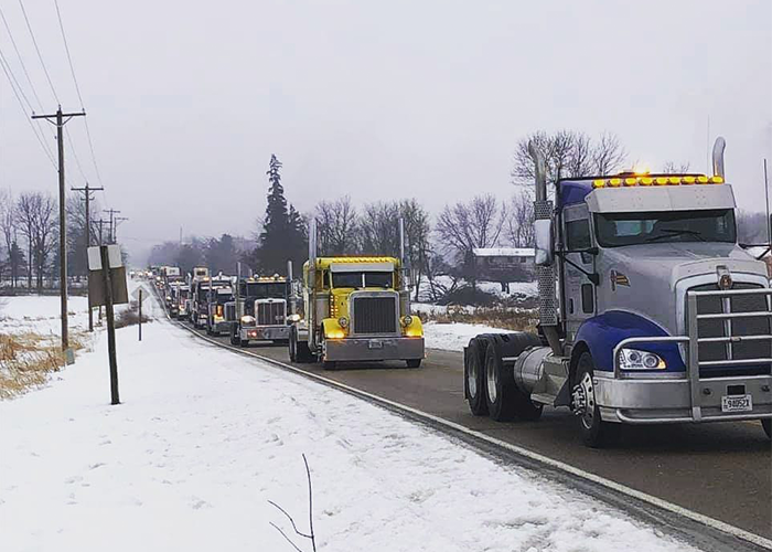
[{"label": "dark radiator grille behind guard bars of blue and silver truck", "polygon": [[[760,289],[754,284],[736,283],[732,289]],[[716,284],[707,284],[690,288],[691,291],[717,291]],[[747,295],[736,297],[697,297],[698,315],[719,315],[727,312],[759,312],[769,310],[766,296]],[[769,318],[733,318],[731,320],[708,319],[697,322],[700,338],[725,338],[747,336],[769,336],[772,333]],[[699,360],[743,360],[772,357],[772,343],[769,340],[743,341],[739,343],[708,342],[699,344]],[[728,375],[762,375],[770,374],[770,364],[759,365],[716,365],[700,367],[700,378],[721,378]]]}]

